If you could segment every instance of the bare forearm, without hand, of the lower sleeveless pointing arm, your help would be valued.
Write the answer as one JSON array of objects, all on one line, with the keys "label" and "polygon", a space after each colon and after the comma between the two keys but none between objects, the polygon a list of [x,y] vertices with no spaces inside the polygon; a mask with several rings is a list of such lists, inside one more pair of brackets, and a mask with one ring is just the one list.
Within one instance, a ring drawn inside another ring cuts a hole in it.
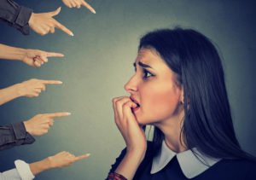
[{"label": "bare forearm, without hand, of the lower sleeveless pointing arm", "polygon": [[20,97],[19,86],[20,84],[15,84],[0,90],[0,105]]}]

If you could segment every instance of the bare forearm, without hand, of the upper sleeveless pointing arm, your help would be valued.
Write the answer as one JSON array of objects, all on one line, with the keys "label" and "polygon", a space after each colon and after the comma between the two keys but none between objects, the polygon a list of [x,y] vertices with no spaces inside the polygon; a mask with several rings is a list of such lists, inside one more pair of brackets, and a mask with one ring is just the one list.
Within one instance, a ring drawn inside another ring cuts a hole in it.
[{"label": "bare forearm, without hand, of the upper sleeveless pointing arm", "polygon": [[26,49],[0,44],[0,59],[21,61],[26,56]]}]

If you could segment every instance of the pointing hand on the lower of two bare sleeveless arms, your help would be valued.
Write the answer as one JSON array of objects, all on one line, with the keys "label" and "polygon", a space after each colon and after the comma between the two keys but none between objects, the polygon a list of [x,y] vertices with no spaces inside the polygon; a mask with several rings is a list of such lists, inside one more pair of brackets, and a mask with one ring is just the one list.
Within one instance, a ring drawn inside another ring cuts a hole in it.
[{"label": "pointing hand on the lower of two bare sleeveless arms", "polygon": [[17,84],[16,88],[20,96],[37,97],[42,90],[46,90],[46,84],[62,84],[62,82],[59,80],[42,80],[32,78]]}]

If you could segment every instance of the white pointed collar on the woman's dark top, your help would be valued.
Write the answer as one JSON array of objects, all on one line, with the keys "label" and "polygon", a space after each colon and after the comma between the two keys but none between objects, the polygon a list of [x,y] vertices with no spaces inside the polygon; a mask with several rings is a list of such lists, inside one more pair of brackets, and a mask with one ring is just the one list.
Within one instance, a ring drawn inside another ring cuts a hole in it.
[{"label": "white pointed collar on the woman's dark top", "polygon": [[182,153],[175,153],[168,148],[166,142],[163,141],[159,154],[153,159],[150,173],[154,174],[162,170],[176,155],[178,164],[180,165],[184,176],[190,179],[200,175],[203,171],[207,171],[209,167],[220,160],[201,154],[196,148],[193,148],[193,151],[195,154],[193,154],[190,149]]}]

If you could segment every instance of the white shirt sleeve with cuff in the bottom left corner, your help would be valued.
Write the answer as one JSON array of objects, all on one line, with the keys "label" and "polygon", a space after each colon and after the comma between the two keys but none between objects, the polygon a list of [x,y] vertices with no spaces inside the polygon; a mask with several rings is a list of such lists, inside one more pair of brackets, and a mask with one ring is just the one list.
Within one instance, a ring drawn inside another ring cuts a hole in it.
[{"label": "white shirt sleeve with cuff in the bottom left corner", "polygon": [[34,175],[26,162],[15,160],[15,169],[0,172],[0,180],[32,180]]}]

